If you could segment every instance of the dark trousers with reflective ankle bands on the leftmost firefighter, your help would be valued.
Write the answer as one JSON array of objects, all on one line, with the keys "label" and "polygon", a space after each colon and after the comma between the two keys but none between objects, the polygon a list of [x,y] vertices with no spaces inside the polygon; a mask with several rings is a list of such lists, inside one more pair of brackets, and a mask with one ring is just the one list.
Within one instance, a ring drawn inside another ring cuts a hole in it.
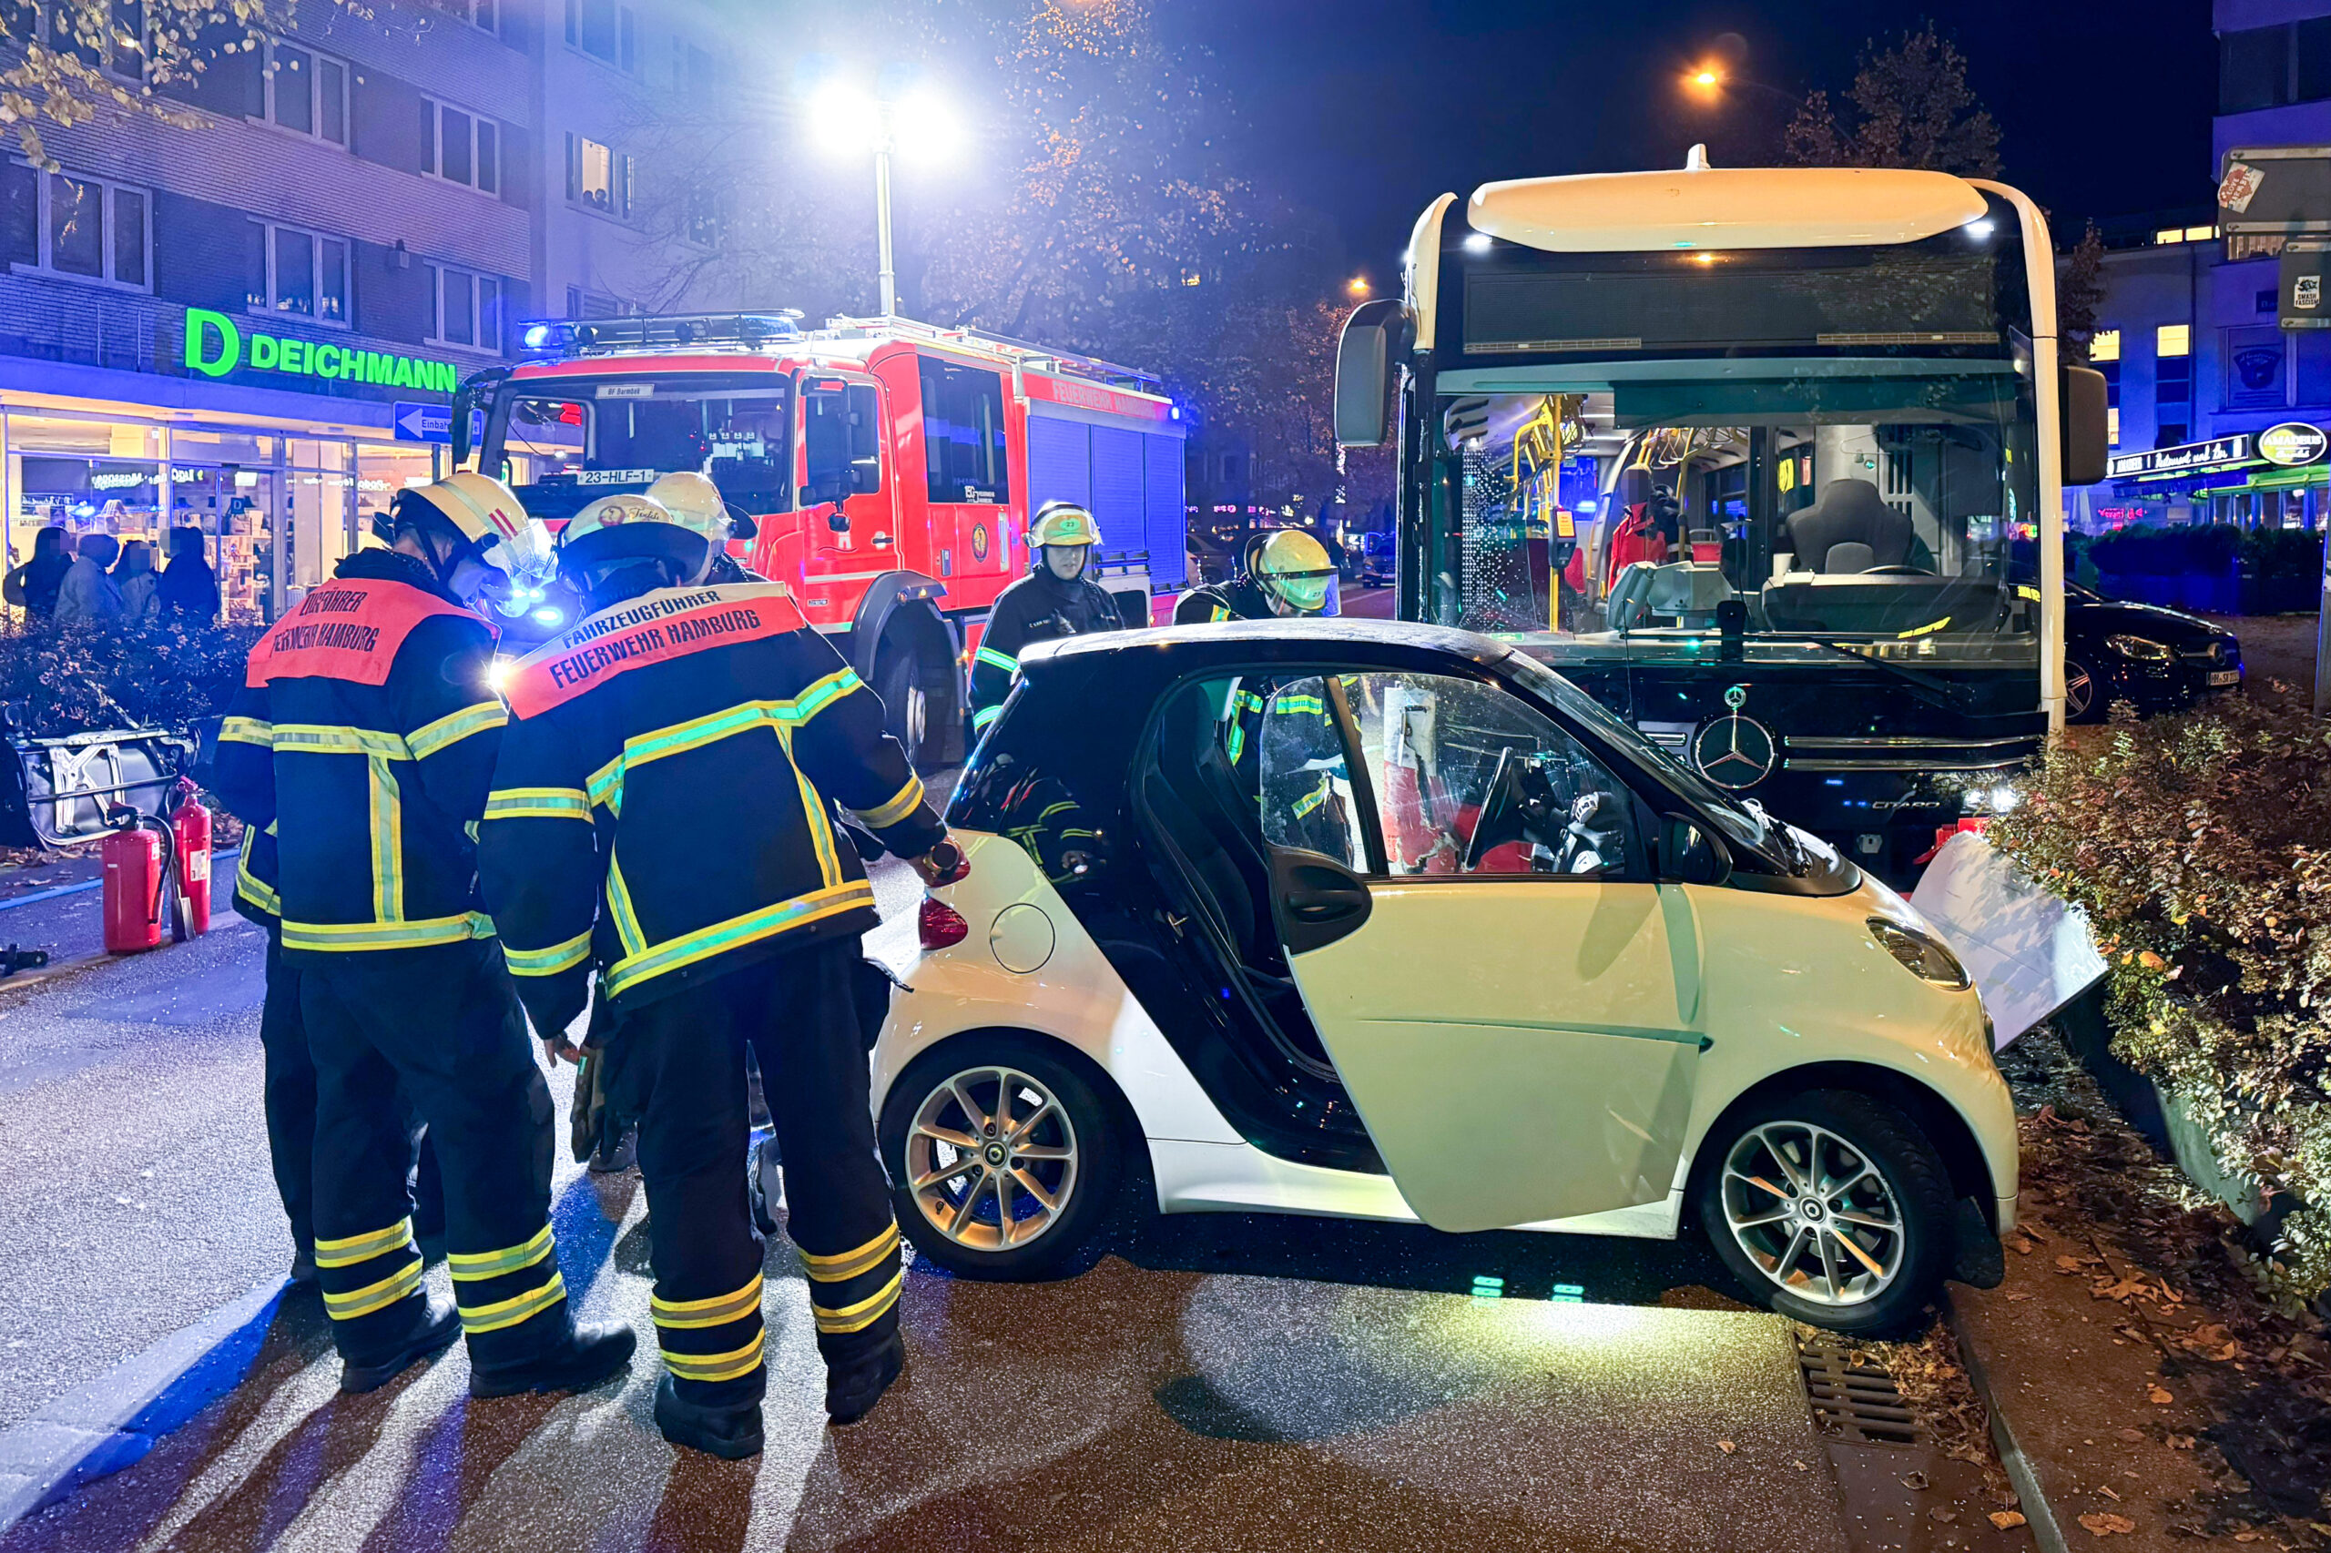
[{"label": "dark trousers with reflective ankle bands on the leftmost firefighter", "polygon": [[296,961],[317,1070],[315,1262],[340,1355],[380,1362],[424,1320],[399,1091],[443,1164],[445,1262],[471,1364],[524,1364],[564,1343],[550,1087],[501,944]]}]

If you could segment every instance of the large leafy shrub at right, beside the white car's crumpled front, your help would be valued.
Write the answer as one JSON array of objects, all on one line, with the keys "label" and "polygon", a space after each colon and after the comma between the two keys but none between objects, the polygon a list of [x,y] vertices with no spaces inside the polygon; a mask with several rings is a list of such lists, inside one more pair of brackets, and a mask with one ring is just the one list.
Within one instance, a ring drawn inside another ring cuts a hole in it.
[{"label": "large leafy shrub at right, beside the white car's crumpled front", "polygon": [[2231,1171],[2303,1203],[2275,1285],[2331,1290],[2331,728],[2238,695],[2058,737],[1991,837],[2089,912],[2112,1049]]}]

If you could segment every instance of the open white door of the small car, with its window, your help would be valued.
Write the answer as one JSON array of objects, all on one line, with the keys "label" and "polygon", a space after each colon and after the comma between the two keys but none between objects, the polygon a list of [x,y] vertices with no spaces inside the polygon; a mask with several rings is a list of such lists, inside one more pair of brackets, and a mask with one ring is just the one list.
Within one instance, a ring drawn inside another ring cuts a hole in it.
[{"label": "open white door of the small car, with its window", "polygon": [[1417,1217],[1471,1231],[1662,1201],[1699,1063],[1699,933],[1632,795],[1494,683],[1273,686],[1273,914]]}]

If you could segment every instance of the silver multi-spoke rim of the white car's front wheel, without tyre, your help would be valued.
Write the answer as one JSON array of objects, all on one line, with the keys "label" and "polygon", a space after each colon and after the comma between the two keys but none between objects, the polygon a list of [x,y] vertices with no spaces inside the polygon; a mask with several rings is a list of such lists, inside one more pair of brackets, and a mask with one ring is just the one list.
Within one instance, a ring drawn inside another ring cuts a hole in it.
[{"label": "silver multi-spoke rim of the white car's front wheel, without tyre", "polygon": [[1902,1203],[1851,1140],[1811,1122],[1762,1122],[1723,1166],[1723,1215],[1765,1278],[1816,1306],[1865,1306],[1902,1273]]}]

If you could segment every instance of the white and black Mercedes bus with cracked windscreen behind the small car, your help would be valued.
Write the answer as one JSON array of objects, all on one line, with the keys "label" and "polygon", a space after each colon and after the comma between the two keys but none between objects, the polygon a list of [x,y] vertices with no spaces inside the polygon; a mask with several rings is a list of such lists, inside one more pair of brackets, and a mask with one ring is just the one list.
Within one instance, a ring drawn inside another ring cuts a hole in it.
[{"label": "white and black Mercedes bus with cracked windscreen behind the small car", "polygon": [[[1403,294],[1345,322],[1336,436],[1396,445],[1401,618],[1513,639],[1879,877],[2012,802],[2063,721],[2105,380],[2061,361],[2005,184],[1695,147],[1443,194]],[[1548,513],[1580,469],[1594,499]]]}]

